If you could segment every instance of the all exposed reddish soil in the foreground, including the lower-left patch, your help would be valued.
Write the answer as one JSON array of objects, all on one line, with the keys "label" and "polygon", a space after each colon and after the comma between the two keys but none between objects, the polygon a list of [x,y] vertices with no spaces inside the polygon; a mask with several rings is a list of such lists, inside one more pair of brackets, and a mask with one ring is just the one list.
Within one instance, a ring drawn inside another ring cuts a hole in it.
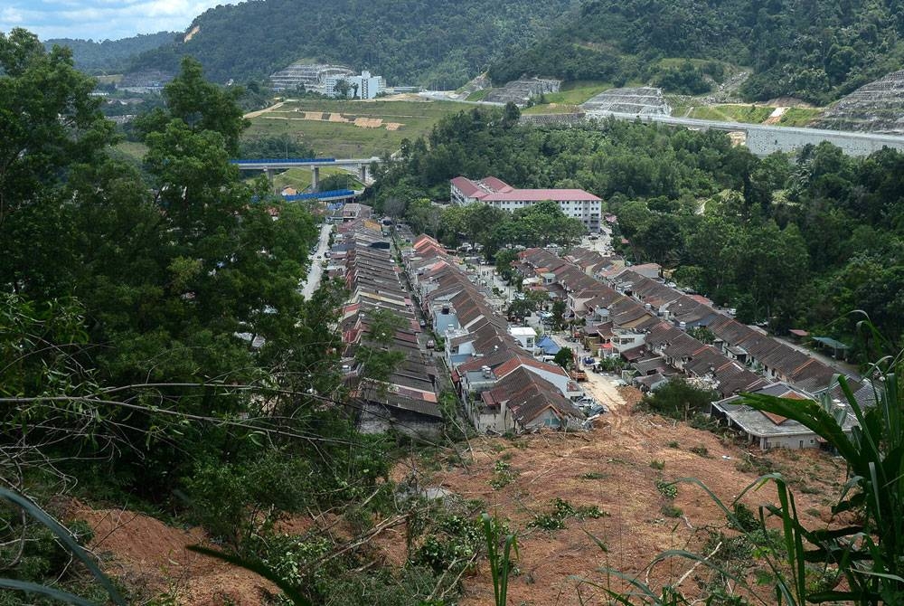
[{"label": "all exposed reddish soil in the foreground, including the lower-left patch", "polygon": [[[638,399],[636,390],[622,387],[618,391],[628,404]],[[829,508],[844,481],[843,464],[824,453],[779,450],[749,455],[731,440],[694,430],[683,422],[631,414],[627,406],[614,407],[590,433],[543,432],[513,440],[476,438],[458,444],[457,450],[466,459],[466,467],[448,449],[428,451],[402,461],[392,477],[400,481],[414,474],[421,488],[442,487],[462,499],[479,499],[485,511],[499,516],[518,533],[520,557],[509,585],[511,604],[605,603],[600,587],[621,590],[623,586],[615,577],[607,579],[598,572],[602,566],[637,574],[654,585],[682,578],[691,563],[660,563],[648,575],[645,566],[667,549],[699,552],[709,527],[724,530],[724,516],[701,488],[680,484],[670,499],[657,488],[657,481],[700,478],[730,503],[761,473],[778,471],[794,488],[797,511],[811,528],[831,526]],[[500,462],[504,466],[500,467]],[[500,481],[499,469],[505,470],[505,481]],[[560,530],[528,526],[534,516],[551,511],[551,500],[557,497],[573,507],[598,507],[600,516],[569,517]],[[775,490],[766,484],[743,500],[756,510],[775,498]],[[197,528],[174,528],[136,512],[81,503],[74,504],[67,517],[89,522],[95,531],[90,547],[108,554],[108,573],[144,583],[151,595],[173,592],[181,603],[213,606],[227,601],[227,596],[234,603],[259,603],[259,587],[273,589],[252,573],[186,552],[186,545],[204,543],[208,538]],[[318,524],[323,532],[340,539],[351,536],[350,529],[333,515],[316,521],[293,516],[281,523],[281,528],[301,534]],[[730,530],[725,532],[732,535]],[[607,552],[590,535],[605,544]],[[372,539],[372,557],[404,565],[405,545],[406,528],[392,527]],[[706,568],[700,567],[684,579],[680,589],[688,597],[696,597],[698,583],[704,583],[707,576]],[[485,562],[462,582],[465,597],[458,603],[494,603]],[[763,591],[766,595],[769,590]]]}]

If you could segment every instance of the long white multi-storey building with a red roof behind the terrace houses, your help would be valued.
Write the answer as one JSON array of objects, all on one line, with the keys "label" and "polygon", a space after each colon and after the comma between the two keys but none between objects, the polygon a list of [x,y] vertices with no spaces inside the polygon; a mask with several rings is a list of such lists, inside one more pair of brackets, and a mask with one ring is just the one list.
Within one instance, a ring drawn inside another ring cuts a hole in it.
[{"label": "long white multi-storey building with a red roof behind the terrace houses", "polygon": [[509,212],[551,200],[559,204],[566,216],[584,223],[589,232],[599,231],[603,209],[600,198],[582,189],[515,189],[494,176],[479,181],[457,176],[452,179],[451,200],[452,204],[479,202]]}]

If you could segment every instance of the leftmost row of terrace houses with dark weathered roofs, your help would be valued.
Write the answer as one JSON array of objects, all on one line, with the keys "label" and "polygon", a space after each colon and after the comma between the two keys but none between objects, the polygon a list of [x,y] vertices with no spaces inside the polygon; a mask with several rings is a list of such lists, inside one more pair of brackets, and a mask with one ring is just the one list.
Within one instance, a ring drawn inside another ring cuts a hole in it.
[{"label": "leftmost row of terrace houses with dark weathered roofs", "polygon": [[[410,293],[400,279],[401,268],[392,259],[391,241],[381,225],[358,218],[339,227],[331,251],[331,278],[342,279],[351,293],[340,325],[344,350],[343,372],[359,402],[358,424],[363,432],[394,428],[407,433],[432,434],[441,430],[438,375],[425,346]],[[339,261],[341,259],[341,261]],[[385,310],[400,319],[388,343],[371,335],[372,318]],[[362,377],[359,348],[400,352],[404,355],[385,381]]]}]

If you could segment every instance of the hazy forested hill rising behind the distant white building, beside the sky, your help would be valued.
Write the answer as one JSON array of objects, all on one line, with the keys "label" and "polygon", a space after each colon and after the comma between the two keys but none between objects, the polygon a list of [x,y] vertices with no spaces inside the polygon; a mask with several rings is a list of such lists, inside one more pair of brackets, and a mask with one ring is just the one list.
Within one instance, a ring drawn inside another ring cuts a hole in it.
[{"label": "hazy forested hill rising behind the distant white building, beside the sky", "polygon": [[369,69],[390,84],[456,88],[536,40],[575,0],[266,0],[221,5],[187,43],[146,52],[134,71],[175,72],[193,55],[211,80],[261,78],[307,58]]}]

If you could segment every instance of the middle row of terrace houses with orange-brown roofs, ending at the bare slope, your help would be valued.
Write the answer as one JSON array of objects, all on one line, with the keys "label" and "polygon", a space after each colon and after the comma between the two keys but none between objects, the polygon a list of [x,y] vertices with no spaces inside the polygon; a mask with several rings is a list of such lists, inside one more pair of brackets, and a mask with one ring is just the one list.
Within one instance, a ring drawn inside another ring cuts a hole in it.
[{"label": "middle row of terrace houses with orange-brown roofs, ending at the bare slope", "polygon": [[403,259],[414,297],[478,431],[583,427],[584,414],[574,404],[583,395],[578,384],[522,346],[485,301],[475,275],[428,236],[417,238]]}]

